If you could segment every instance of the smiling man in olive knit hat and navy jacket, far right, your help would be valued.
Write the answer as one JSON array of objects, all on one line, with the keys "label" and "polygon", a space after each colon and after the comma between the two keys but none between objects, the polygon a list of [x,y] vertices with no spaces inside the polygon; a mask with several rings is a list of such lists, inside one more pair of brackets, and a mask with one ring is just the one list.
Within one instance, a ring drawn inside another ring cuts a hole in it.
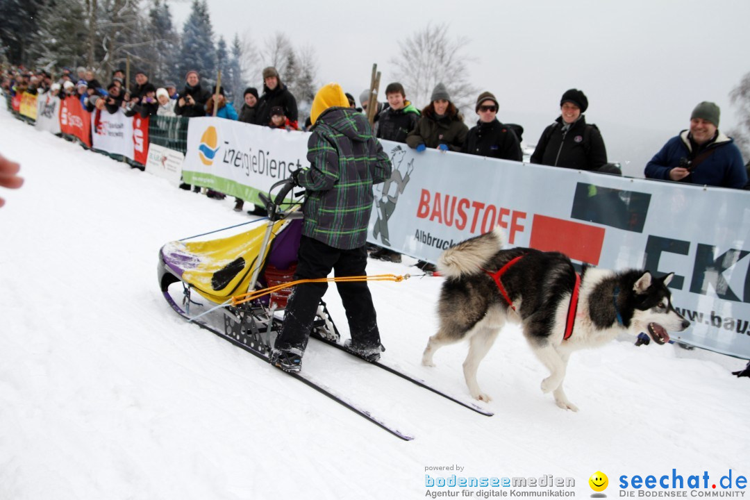
[{"label": "smiling man in olive knit hat and navy jacket, far right", "polygon": [[646,178],[742,189],[748,175],[734,139],[718,131],[719,108],[703,101],[690,128],[669,139],[646,164]]}]

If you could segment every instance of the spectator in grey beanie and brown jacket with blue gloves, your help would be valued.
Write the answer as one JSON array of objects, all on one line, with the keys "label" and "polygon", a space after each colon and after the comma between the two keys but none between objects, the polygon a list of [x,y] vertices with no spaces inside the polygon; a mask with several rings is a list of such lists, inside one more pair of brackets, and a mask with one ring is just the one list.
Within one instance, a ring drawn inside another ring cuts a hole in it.
[{"label": "spectator in grey beanie and brown jacket with blue gloves", "polygon": [[446,85],[438,83],[430,101],[422,109],[417,127],[407,136],[407,144],[417,151],[425,151],[426,148],[461,151],[469,127],[463,123],[463,116],[451,102]]}]

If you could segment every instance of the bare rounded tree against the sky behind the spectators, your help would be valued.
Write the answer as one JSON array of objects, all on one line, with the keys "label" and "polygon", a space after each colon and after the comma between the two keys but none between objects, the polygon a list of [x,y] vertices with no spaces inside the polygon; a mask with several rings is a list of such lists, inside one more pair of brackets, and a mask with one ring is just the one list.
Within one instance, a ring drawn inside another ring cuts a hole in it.
[{"label": "bare rounded tree against the sky behind the spectators", "polygon": [[399,43],[401,53],[391,64],[407,95],[419,107],[430,102],[435,85],[446,85],[452,102],[466,108],[473,104],[478,90],[471,83],[467,63],[473,58],[464,53],[466,37],[452,38],[447,24],[428,24]]}]

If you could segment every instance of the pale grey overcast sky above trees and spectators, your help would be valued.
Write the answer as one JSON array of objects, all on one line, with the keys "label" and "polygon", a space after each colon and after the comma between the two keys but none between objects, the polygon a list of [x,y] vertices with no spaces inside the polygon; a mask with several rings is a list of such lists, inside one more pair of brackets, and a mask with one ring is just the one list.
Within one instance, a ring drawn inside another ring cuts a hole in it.
[{"label": "pale grey overcast sky above trees and spectators", "polygon": [[[190,1],[170,8],[181,32]],[[374,62],[381,89],[393,81],[400,40],[448,22],[452,35],[471,40],[470,76],[496,95],[500,121],[523,124],[532,141],[573,87],[589,97],[586,119],[607,142],[601,124],[661,131],[665,142],[701,100],[721,107],[725,130],[736,124],[728,93],[750,71],[748,0],[208,0],[208,8],[214,34],[228,42],[249,33],[262,46],[283,31],[296,46],[311,44],[319,81],[355,96],[369,86]]]}]

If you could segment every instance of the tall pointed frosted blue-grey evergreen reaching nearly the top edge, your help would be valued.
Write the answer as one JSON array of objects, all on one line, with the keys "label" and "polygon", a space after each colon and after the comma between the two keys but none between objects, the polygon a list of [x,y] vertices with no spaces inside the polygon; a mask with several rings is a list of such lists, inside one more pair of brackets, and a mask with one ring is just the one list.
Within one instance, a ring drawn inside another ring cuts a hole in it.
[{"label": "tall pointed frosted blue-grey evergreen reaching nearly the top edge", "polygon": [[193,0],[190,16],[182,29],[178,56],[179,73],[183,78],[187,71],[196,70],[206,82],[211,85],[216,82],[216,49],[213,36],[208,5],[205,0]]}]

